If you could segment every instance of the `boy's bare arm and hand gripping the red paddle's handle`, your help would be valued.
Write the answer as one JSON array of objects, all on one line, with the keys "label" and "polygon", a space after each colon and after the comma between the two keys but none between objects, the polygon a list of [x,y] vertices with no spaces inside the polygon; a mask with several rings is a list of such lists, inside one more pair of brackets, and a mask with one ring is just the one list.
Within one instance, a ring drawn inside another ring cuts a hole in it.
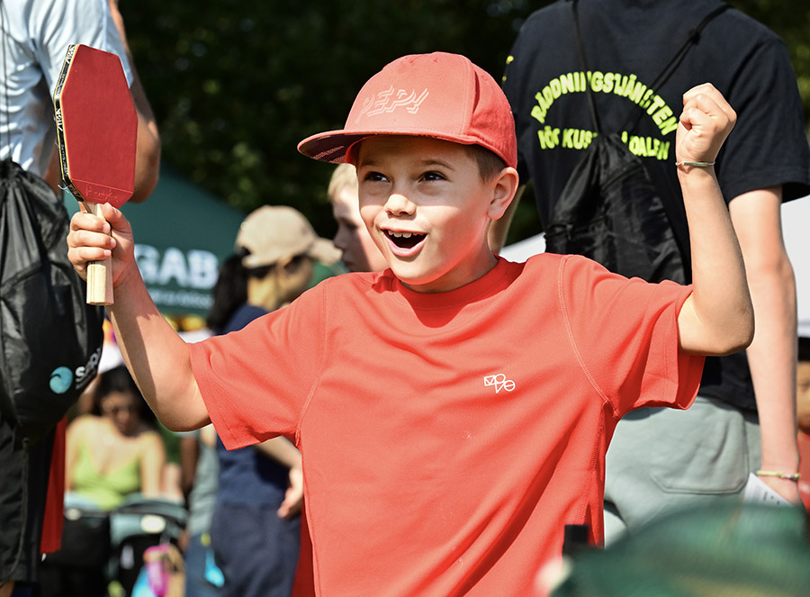
[{"label": "boy's bare arm and hand gripping the red paddle's handle", "polygon": [[[67,235],[67,257],[86,279],[87,263],[112,256],[115,304],[107,307],[121,355],[140,392],[169,430],[192,430],[210,422],[191,366],[188,345],[157,311],[140,277],[130,223],[110,204],[106,222],[76,213]],[[111,234],[112,230],[112,234]]]}]

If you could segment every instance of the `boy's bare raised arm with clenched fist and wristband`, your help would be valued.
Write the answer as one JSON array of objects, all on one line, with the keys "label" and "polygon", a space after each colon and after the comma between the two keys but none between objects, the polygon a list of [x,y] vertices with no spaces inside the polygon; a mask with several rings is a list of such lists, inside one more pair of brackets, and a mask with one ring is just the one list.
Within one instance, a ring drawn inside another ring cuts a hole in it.
[{"label": "boy's bare raised arm with clenched fist and wristband", "polygon": [[[683,101],[676,160],[714,162],[734,127],[734,110],[709,84],[690,89]],[[714,167],[677,167],[692,250],[692,294],[678,315],[680,348],[694,354],[730,354],[746,348],[753,336],[743,255]]]}]

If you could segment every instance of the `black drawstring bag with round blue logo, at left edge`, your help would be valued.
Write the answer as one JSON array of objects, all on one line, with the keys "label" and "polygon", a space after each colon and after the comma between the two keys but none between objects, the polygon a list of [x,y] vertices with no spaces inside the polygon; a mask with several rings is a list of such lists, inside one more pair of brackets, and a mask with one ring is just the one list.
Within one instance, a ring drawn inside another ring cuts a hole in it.
[{"label": "black drawstring bag with round blue logo, at left edge", "polygon": [[0,412],[44,437],[94,378],[103,307],[67,260],[67,210],[39,176],[0,162]]}]

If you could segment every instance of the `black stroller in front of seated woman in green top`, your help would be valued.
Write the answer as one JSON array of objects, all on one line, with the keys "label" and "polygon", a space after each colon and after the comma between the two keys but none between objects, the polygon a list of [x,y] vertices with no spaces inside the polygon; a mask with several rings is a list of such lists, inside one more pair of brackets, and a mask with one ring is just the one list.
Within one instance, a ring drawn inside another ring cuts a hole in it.
[{"label": "black stroller in front of seated woman in green top", "polygon": [[186,517],[182,503],[138,493],[112,511],[67,493],[62,548],[42,561],[40,596],[135,597],[145,552],[175,545]]}]

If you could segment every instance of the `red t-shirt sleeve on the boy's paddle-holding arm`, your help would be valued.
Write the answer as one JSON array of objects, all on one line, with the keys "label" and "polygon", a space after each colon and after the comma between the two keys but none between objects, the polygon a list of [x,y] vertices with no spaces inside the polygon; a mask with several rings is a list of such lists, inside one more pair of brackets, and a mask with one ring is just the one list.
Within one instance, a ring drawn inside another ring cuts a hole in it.
[{"label": "red t-shirt sleeve on the boy's paddle-holding arm", "polygon": [[202,400],[227,448],[294,438],[322,365],[324,286],[242,330],[189,344]]}]

